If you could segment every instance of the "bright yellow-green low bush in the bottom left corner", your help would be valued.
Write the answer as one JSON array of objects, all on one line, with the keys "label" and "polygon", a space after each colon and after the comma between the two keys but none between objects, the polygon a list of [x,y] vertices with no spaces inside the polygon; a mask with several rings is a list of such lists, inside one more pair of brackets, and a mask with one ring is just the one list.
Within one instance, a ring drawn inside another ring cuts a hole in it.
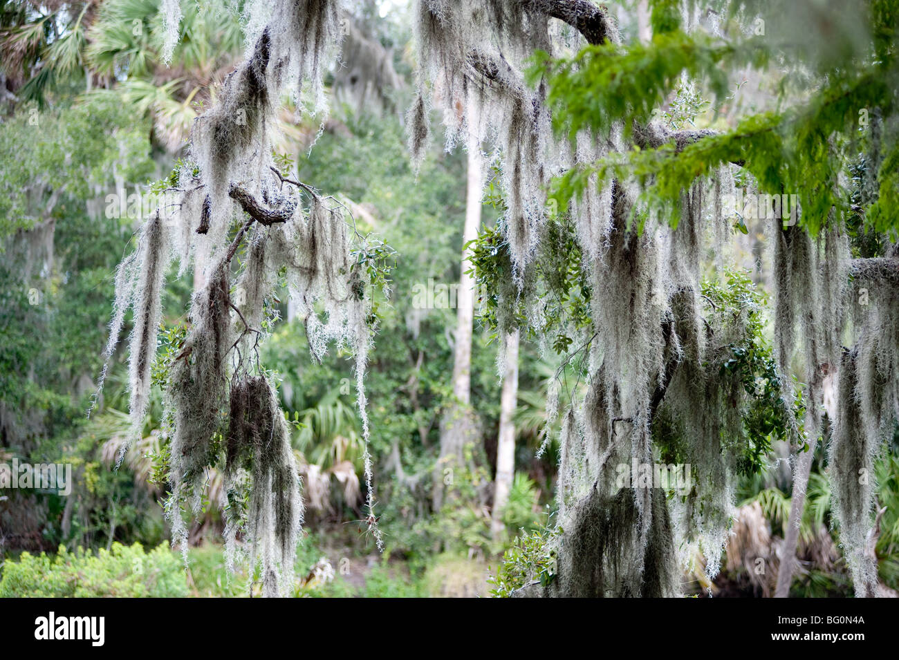
[{"label": "bright yellow-green low bush in the bottom left corner", "polygon": [[129,597],[180,598],[187,595],[182,561],[168,543],[149,553],[139,543],[113,543],[111,550],[74,552],[59,547],[55,556],[23,552],[6,561],[0,598],[8,597]]}]

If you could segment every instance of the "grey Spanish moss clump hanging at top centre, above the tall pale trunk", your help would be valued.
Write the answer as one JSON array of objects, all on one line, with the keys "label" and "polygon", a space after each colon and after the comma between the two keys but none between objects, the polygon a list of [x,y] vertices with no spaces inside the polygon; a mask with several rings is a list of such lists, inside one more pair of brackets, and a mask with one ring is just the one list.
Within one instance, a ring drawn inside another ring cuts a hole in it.
[{"label": "grey Spanish moss clump hanging at top centre, above the tall pale trunk", "polygon": [[545,218],[542,186],[559,167],[554,150],[547,148],[551,128],[542,102],[545,90],[531,90],[520,73],[532,48],[552,46],[546,16],[526,5],[418,0],[419,93],[409,113],[414,163],[421,161],[426,145],[424,97],[429,91],[429,98],[440,103],[448,149],[459,141],[481,144],[489,138],[502,153],[503,228],[520,286]]}]

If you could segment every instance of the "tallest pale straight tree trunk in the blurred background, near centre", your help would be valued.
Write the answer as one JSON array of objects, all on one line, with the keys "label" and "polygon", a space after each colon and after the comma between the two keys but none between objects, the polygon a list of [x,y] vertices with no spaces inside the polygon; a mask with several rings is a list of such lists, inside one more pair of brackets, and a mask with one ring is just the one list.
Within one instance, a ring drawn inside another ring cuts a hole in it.
[{"label": "tallest pale straight tree trunk in the blurred background, near centre", "polygon": [[471,410],[471,337],[475,317],[475,281],[466,271],[470,251],[465,247],[477,238],[481,224],[482,155],[481,145],[474,140],[468,145],[467,194],[465,228],[462,232],[462,271],[456,296],[456,337],[453,347],[452,400],[441,418],[441,453],[434,470],[434,510],[443,504],[443,493],[453,482],[453,471],[459,464],[467,442],[474,440],[476,425]]}]

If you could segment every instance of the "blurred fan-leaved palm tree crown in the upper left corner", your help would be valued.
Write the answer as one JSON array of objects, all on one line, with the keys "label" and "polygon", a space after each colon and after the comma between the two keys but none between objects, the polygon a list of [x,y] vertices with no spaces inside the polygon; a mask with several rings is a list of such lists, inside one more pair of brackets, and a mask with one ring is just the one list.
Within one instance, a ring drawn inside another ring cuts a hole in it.
[{"label": "blurred fan-leaved palm tree crown in the upper left corner", "polygon": [[119,94],[150,114],[156,141],[172,153],[243,50],[239,16],[223,0],[185,4],[171,66],[162,58],[159,0],[49,3],[48,13],[16,6],[4,13],[12,18],[0,30],[0,53],[20,101],[46,105],[80,80],[85,92]]}]

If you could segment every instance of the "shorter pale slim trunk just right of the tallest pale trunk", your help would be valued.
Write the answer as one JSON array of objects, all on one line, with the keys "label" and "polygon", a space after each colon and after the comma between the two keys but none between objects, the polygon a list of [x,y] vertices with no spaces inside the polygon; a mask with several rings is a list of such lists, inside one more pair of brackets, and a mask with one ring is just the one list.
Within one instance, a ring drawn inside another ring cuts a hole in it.
[{"label": "shorter pale slim trunk just right of the tallest pale trunk", "polygon": [[518,403],[518,346],[519,331],[505,337],[505,370],[503,394],[500,398],[500,432],[496,446],[496,480],[494,482],[494,510],[490,530],[498,540],[505,530],[503,509],[509,501],[512,477],[515,473],[515,407]]}]

